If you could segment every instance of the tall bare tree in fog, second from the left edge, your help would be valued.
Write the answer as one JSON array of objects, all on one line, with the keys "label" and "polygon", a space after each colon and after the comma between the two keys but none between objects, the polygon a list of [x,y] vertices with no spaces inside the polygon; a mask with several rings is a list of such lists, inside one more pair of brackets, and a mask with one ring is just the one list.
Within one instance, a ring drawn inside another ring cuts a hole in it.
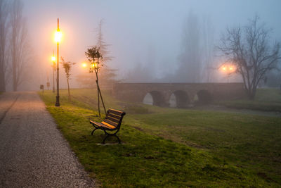
[{"label": "tall bare tree in fog, second from the left edge", "polygon": [[14,0],[11,4],[11,61],[13,73],[13,91],[24,81],[27,63],[30,61],[30,46],[27,39],[25,19],[22,18],[23,4]]}]

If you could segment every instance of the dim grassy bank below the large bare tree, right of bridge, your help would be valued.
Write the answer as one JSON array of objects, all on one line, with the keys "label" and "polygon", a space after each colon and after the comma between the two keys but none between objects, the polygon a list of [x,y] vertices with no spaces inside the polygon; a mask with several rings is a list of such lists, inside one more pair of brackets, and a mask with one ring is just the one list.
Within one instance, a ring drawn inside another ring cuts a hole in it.
[{"label": "dim grassy bank below the large bare tree, right of bridge", "polygon": [[281,112],[281,90],[273,88],[257,89],[254,100],[240,99],[234,101],[221,101],[218,104],[229,108]]}]

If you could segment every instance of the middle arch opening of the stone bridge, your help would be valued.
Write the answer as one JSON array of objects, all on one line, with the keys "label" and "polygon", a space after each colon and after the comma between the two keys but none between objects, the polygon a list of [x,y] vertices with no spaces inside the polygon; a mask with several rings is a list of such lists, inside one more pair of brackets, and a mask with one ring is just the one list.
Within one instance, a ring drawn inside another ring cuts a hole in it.
[{"label": "middle arch opening of the stone bridge", "polygon": [[183,90],[173,92],[169,98],[169,106],[176,108],[186,108],[190,104],[188,94]]}]

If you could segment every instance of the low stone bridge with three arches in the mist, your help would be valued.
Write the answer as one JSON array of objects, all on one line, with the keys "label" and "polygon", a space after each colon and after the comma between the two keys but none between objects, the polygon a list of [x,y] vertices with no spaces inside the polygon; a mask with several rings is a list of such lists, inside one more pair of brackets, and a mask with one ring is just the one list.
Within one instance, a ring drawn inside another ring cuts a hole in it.
[{"label": "low stone bridge with three arches in the mist", "polygon": [[178,108],[245,96],[243,83],[118,83],[113,87],[113,95],[123,101],[142,103],[147,94],[153,105],[171,106],[174,98]]}]

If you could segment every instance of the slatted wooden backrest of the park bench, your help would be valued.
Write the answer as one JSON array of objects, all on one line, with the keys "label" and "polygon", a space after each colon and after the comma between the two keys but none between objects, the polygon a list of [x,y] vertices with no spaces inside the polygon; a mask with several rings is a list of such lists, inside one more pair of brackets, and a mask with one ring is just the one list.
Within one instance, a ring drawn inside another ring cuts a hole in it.
[{"label": "slatted wooden backrest of the park bench", "polygon": [[108,123],[110,125],[113,125],[114,127],[120,127],[122,123],[123,116],[125,115],[125,112],[117,111],[115,109],[109,108],[107,111],[107,114],[105,116],[105,120],[103,120],[105,123]]}]

